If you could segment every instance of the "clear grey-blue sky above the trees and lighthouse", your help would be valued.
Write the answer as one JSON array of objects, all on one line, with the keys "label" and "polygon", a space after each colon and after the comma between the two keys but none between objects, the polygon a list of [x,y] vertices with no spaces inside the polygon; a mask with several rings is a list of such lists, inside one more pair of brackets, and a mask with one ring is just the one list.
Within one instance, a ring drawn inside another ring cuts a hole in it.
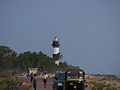
[{"label": "clear grey-blue sky above the trees and lighthouse", "polygon": [[0,45],[52,56],[88,73],[120,74],[120,0],[0,0]]}]

